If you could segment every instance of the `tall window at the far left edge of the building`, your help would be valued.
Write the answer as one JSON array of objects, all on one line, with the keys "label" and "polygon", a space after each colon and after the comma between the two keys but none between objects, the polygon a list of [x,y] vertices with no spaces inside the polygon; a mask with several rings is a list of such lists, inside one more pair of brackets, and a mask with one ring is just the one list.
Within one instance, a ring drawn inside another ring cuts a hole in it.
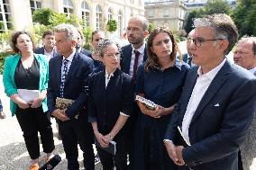
[{"label": "tall window at the far left edge of the building", "polygon": [[0,32],[13,28],[9,0],[0,0]]}]

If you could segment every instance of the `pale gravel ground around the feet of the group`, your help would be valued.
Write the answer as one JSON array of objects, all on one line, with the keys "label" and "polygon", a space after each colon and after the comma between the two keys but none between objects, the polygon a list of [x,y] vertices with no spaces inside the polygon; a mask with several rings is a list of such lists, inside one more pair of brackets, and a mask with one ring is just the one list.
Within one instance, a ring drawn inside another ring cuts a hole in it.
[{"label": "pale gravel ground around the feet of the group", "polygon": [[[25,147],[23,140],[23,132],[20,129],[16,117],[11,116],[9,111],[9,98],[4,93],[4,86],[2,83],[3,76],[0,76],[0,98],[4,105],[4,112],[6,115],[5,120],[0,120],[0,170],[26,170],[30,166],[30,157]],[[57,138],[56,122],[52,120],[52,129],[54,133],[54,154],[59,154],[62,158],[61,162],[54,169],[65,170],[67,169],[67,159],[62,147],[61,140]],[[46,155],[42,152],[40,165],[44,164]],[[83,156],[79,149],[78,161],[80,169],[83,169]],[[96,166],[96,170],[100,170],[100,165]]]}]

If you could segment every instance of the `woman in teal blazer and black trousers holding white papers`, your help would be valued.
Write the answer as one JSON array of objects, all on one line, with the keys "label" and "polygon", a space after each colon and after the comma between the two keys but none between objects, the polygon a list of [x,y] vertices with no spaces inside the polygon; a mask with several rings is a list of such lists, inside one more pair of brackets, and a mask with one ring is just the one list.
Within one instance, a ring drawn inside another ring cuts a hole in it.
[{"label": "woman in teal blazer and black trousers holding white papers", "polygon": [[12,47],[15,54],[5,59],[5,94],[11,98],[11,112],[23,130],[26,148],[32,159],[31,170],[39,168],[41,134],[43,151],[47,160],[54,149],[50,127],[50,114],[47,112],[46,88],[48,85],[48,61],[45,56],[33,53],[33,43],[26,31],[14,32]]}]

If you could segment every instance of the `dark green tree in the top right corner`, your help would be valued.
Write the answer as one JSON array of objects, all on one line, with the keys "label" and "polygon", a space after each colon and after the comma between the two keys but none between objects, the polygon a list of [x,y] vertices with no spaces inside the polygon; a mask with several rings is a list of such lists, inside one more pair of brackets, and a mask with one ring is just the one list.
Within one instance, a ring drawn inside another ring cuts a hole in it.
[{"label": "dark green tree in the top right corner", "polygon": [[235,22],[239,34],[256,36],[256,1],[238,0],[237,6],[233,10],[232,18]]}]

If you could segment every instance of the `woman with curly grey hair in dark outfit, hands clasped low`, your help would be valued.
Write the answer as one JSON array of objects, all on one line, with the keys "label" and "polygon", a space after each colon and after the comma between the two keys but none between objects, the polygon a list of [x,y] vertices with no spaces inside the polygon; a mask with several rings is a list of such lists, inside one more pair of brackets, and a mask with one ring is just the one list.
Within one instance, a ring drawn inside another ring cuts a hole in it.
[{"label": "woman with curly grey hair in dark outfit, hands clasped low", "polygon": [[[125,170],[129,148],[125,122],[133,108],[133,81],[118,68],[120,48],[113,41],[103,40],[97,50],[105,70],[89,78],[88,120],[94,129],[103,169],[112,170],[115,166]],[[109,149],[105,151],[112,140],[116,142],[115,155]]]}]

